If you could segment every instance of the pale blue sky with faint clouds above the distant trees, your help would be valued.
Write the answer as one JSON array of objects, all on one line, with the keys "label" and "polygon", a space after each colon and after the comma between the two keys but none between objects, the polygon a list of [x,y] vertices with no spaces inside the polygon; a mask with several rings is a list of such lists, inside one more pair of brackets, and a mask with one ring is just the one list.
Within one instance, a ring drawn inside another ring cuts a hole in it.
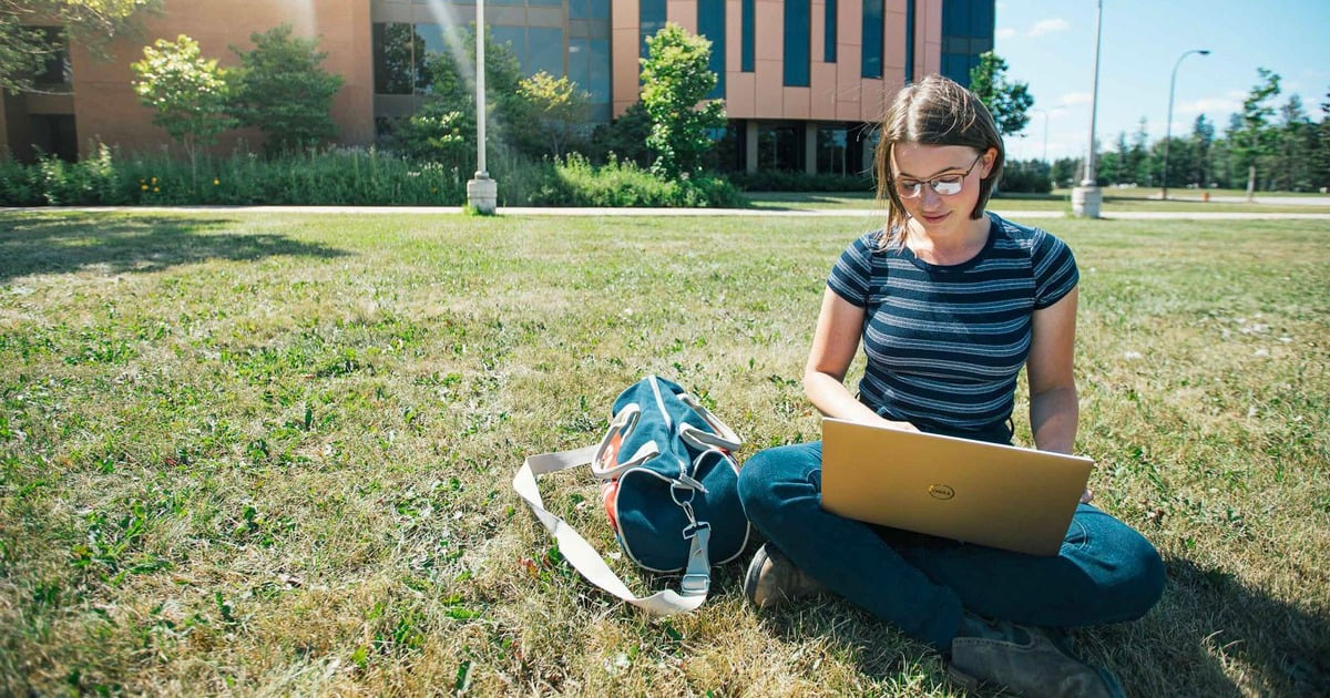
[{"label": "pale blue sky with faint clouds above the distant trees", "polygon": [[[1229,116],[1261,84],[1281,77],[1278,109],[1297,93],[1321,121],[1330,93],[1330,0],[1101,0],[1099,100],[1101,149],[1128,142],[1145,118],[1153,142],[1165,134],[1169,80],[1177,65],[1172,134],[1198,114],[1224,134]],[[1007,78],[1035,97],[1024,137],[1007,138],[1013,160],[1083,157],[1089,142],[1096,0],[998,0],[994,52]],[[1209,49],[1208,56],[1192,49]],[[1278,118],[1278,117],[1277,117]]]}]

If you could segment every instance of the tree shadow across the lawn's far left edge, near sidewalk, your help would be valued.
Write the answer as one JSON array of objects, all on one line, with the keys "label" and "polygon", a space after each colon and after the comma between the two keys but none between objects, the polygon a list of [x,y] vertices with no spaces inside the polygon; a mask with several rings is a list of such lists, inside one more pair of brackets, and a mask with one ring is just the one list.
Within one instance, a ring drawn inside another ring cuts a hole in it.
[{"label": "tree shadow across the lawn's far left edge, near sidewalk", "polygon": [[271,233],[227,234],[238,223],[169,215],[0,214],[0,283],[32,274],[145,274],[209,259],[350,254]]}]

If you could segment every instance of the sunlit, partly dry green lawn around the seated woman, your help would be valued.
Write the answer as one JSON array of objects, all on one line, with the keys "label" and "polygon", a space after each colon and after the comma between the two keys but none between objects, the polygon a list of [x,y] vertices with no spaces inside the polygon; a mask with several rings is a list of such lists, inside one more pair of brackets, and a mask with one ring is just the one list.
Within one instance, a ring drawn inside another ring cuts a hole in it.
[{"label": "sunlit, partly dry green lawn around the seated woman", "polygon": [[[1041,225],[1083,270],[1097,503],[1169,572],[1080,646],[1137,695],[1330,691],[1330,223]],[[955,694],[845,602],[751,610],[739,564],[694,614],[632,612],[509,488],[648,372],[741,456],[815,437],[797,379],[858,233],[0,214],[0,693]],[[589,475],[543,487],[613,548]]]}]

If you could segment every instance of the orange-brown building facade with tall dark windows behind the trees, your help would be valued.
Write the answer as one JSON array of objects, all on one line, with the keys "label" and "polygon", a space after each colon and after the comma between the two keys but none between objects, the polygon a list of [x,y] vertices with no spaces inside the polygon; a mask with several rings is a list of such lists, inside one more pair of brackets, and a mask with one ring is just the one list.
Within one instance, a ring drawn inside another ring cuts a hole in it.
[{"label": "orange-brown building facade with tall dark windows behind the trees", "polygon": [[[205,56],[238,62],[230,47],[291,24],[319,37],[325,68],[344,82],[334,106],[342,142],[363,145],[428,98],[427,65],[471,62],[462,29],[475,0],[165,0],[134,40],[109,60],[69,47],[39,80],[40,93],[0,96],[0,146],[31,160],[40,149],[86,154],[97,141],[124,150],[169,142],[134,97],[129,64],[142,45],[189,35]],[[638,98],[646,37],[666,23],[712,41],[729,126],[717,133],[721,165],[735,170],[862,172],[872,125],[907,82],[940,72],[967,82],[992,49],[994,0],[487,0],[485,25],[527,74],[545,70],[589,94],[592,122],[609,122]],[[52,32],[55,36],[55,32]],[[233,132],[219,152],[254,144]]]}]

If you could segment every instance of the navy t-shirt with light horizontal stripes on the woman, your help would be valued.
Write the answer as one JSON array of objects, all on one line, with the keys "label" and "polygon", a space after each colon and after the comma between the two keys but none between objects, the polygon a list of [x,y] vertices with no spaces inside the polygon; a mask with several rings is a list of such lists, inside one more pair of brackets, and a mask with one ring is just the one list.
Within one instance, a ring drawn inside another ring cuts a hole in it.
[{"label": "navy t-shirt with light horizontal stripes on the woman", "polygon": [[883,417],[1009,439],[1032,314],[1071,292],[1080,275],[1063,241],[988,217],[988,242],[960,265],[931,265],[904,246],[883,250],[879,230],[850,245],[831,270],[827,286],[864,308],[859,399]]}]

